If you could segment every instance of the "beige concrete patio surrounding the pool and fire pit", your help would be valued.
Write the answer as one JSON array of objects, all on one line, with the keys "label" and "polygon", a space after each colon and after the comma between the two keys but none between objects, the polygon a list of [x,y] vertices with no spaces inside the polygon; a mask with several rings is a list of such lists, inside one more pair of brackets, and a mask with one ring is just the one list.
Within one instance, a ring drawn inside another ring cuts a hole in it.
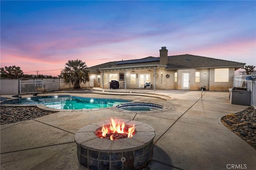
[{"label": "beige concrete patio surrounding the pool and fire pit", "polygon": [[201,98],[201,91],[104,89],[103,92],[95,88],[71,95],[131,99],[171,109],[162,113],[132,113],[112,108],[60,111],[1,125],[1,170],[85,170],[77,160],[74,134],[90,123],[110,117],[140,121],[154,128],[154,154],[145,170],[226,170],[232,164],[240,169],[256,168],[256,150],[220,121],[224,115],[246,109],[231,105],[228,92],[204,91]]}]

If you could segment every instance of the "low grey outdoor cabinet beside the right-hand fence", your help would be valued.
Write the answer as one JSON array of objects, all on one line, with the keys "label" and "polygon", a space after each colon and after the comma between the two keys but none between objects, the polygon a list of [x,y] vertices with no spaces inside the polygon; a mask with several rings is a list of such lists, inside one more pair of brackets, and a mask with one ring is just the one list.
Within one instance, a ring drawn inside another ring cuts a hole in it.
[{"label": "low grey outdoor cabinet beside the right-hand fence", "polygon": [[230,102],[234,105],[251,105],[251,91],[231,90]]}]

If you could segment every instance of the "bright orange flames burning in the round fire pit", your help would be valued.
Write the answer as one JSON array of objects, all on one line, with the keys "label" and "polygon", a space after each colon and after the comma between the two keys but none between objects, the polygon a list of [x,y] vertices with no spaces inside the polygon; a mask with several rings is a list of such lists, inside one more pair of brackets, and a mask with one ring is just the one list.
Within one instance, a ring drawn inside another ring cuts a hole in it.
[{"label": "bright orange flames burning in the round fire pit", "polygon": [[134,125],[130,128],[125,126],[124,123],[116,122],[114,119],[110,119],[110,127],[102,126],[102,134],[98,137],[109,138],[110,140],[116,140],[120,138],[131,138],[135,134]]}]

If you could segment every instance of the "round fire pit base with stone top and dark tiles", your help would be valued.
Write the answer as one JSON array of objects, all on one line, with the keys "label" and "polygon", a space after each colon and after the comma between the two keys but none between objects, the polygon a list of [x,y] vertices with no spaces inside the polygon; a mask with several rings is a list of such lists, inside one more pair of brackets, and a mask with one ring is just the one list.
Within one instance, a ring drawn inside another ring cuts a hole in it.
[{"label": "round fire pit base with stone top and dark tiles", "polygon": [[132,138],[109,140],[98,138],[95,131],[109,120],[87,125],[75,134],[78,161],[93,170],[132,170],[140,168],[153,155],[154,129],[142,122],[121,119],[128,126],[135,125]]}]

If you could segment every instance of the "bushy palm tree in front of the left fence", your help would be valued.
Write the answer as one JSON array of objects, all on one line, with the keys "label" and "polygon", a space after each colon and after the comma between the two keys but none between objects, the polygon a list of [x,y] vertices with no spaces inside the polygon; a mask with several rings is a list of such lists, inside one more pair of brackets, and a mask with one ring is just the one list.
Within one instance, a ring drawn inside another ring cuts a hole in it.
[{"label": "bushy palm tree in front of the left fence", "polygon": [[74,89],[80,89],[80,83],[89,81],[87,68],[86,63],[81,60],[69,60],[62,71],[64,81],[66,83],[71,82],[74,85]]}]

